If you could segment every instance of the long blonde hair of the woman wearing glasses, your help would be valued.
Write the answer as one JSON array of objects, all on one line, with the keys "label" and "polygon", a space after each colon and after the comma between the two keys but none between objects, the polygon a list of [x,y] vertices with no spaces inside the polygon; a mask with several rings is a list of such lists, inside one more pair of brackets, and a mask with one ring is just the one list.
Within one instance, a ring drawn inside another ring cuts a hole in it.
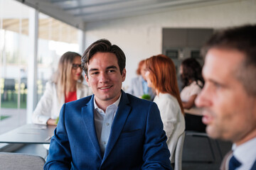
[{"label": "long blonde hair of the woman wearing glasses", "polygon": [[[65,91],[69,91],[70,89],[70,80],[71,80],[71,69],[73,66],[73,60],[75,57],[81,57],[76,52],[65,52],[61,57],[60,61],[58,63],[58,69],[53,74],[52,81],[56,85],[57,89],[57,96],[58,100],[60,101],[60,98],[62,96],[65,96]],[[80,76],[80,84],[82,84],[83,77],[82,75]],[[79,84],[79,85],[80,85]]]}]

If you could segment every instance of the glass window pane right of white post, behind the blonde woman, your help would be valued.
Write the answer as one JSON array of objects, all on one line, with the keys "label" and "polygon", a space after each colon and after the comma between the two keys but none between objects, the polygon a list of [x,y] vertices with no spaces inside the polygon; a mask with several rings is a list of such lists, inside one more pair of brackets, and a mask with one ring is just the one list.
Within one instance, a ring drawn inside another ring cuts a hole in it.
[{"label": "glass window pane right of white post, behind the blonde woman", "polygon": [[38,101],[46,82],[58,67],[58,60],[65,52],[78,52],[78,29],[39,13],[38,26]]}]

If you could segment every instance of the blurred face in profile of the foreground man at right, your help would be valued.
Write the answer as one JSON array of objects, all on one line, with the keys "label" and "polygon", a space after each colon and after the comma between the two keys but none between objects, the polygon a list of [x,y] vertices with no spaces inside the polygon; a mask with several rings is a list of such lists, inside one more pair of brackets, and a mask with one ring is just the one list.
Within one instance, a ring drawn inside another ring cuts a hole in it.
[{"label": "blurred face in profile of the foreground man at right", "polygon": [[244,57],[236,50],[210,49],[203,67],[206,84],[196,98],[208,135],[237,145],[256,135],[256,99],[235,78]]}]

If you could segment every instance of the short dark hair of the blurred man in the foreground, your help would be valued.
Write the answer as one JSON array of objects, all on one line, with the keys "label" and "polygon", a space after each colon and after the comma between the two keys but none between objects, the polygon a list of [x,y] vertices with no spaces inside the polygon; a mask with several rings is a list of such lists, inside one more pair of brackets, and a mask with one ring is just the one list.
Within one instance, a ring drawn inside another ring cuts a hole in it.
[{"label": "short dark hair of the blurred man in the foreground", "polygon": [[219,30],[206,42],[202,55],[205,56],[210,48],[238,50],[245,55],[235,70],[235,77],[241,81],[247,94],[256,96],[256,25]]}]

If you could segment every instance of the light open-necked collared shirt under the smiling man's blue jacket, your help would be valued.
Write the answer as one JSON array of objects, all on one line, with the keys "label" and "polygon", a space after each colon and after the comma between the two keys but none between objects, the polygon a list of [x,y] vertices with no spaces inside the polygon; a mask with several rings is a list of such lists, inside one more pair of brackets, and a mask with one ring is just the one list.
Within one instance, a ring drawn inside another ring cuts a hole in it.
[{"label": "light open-necked collared shirt under the smiling man's blue jacket", "polygon": [[107,106],[106,113],[104,113],[104,111],[97,106],[95,98],[93,99],[95,105],[95,129],[102,154],[105,153],[105,149],[107,147],[107,142],[110,137],[110,130],[114,120],[114,115],[117,113],[117,108],[121,96],[122,94],[120,94],[117,101],[115,101],[112,105]]}]

